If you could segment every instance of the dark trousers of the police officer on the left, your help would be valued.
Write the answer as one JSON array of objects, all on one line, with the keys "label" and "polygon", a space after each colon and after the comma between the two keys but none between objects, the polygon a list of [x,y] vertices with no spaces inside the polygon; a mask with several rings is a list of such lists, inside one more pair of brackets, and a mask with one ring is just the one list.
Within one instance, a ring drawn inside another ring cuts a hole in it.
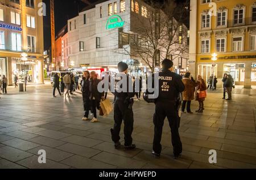
[{"label": "dark trousers of the police officer on the left", "polygon": [[120,140],[120,130],[123,123],[124,134],[125,134],[125,145],[129,146],[133,143],[133,138],[131,138],[131,134],[133,133],[133,109],[128,108],[128,104],[124,103],[124,100],[115,100],[114,104],[114,128],[112,131],[112,140],[114,143],[117,143]]}]

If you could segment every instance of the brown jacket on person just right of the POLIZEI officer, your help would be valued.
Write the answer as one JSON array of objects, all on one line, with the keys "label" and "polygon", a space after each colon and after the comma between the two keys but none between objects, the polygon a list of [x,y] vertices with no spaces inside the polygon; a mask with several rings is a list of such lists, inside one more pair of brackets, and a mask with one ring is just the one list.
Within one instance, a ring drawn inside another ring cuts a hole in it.
[{"label": "brown jacket on person just right of the POLIZEI officer", "polygon": [[192,101],[195,96],[195,87],[199,83],[192,82],[192,80],[189,78],[183,78],[182,82],[185,85],[185,90],[182,93],[183,101]]}]

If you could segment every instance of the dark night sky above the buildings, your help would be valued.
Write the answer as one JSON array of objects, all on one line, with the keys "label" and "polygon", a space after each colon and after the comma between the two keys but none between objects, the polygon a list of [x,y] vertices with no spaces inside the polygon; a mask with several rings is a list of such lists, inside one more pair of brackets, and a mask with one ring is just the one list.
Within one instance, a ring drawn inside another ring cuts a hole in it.
[{"label": "dark night sky above the buildings", "polygon": [[[79,14],[82,8],[88,6],[80,0],[54,0],[55,1],[55,35],[63,28],[68,19],[72,19]],[[96,2],[97,0],[88,0],[90,2]],[[164,0],[155,0],[164,1]],[[177,3],[183,3],[188,0],[176,0]],[[51,16],[49,0],[43,0],[46,3],[47,12],[44,16],[44,50],[48,50],[51,46]],[[189,16],[189,14],[188,14]],[[185,25],[189,25],[189,20],[184,22]]]}]

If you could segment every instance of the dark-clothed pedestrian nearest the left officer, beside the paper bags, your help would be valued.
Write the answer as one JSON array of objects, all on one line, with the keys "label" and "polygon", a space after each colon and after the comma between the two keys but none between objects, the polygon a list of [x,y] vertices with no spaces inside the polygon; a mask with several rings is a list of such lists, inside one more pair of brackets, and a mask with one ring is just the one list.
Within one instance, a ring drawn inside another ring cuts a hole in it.
[{"label": "dark-clothed pedestrian nearest the left officer, beside the paper bags", "polygon": [[104,100],[104,92],[98,92],[98,83],[101,80],[97,79],[98,75],[95,71],[90,72],[90,106],[93,113],[93,119],[90,122],[98,122],[97,110],[100,110],[100,101]]}]

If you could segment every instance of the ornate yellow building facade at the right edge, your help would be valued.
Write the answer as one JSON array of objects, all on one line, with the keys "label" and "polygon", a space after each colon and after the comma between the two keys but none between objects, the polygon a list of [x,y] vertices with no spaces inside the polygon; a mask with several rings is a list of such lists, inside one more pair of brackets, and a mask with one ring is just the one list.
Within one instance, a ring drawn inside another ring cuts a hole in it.
[{"label": "ornate yellow building facade at the right edge", "polygon": [[[256,2],[191,0],[189,69],[205,80],[233,76],[237,85],[256,85]],[[212,61],[213,53],[217,61]]]}]

